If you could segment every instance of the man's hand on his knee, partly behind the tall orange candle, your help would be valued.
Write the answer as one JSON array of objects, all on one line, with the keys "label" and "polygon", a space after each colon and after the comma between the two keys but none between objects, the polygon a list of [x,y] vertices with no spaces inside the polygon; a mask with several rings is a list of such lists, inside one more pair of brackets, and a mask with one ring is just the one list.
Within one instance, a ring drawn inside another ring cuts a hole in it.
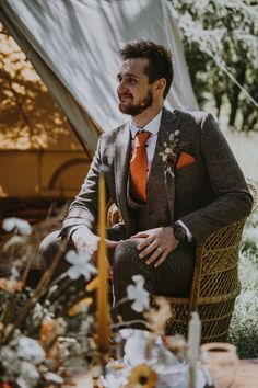
[{"label": "man's hand on his knee, partly behind the tall orange candle", "polygon": [[[90,251],[93,255],[97,252],[99,237],[94,235],[89,228],[81,227],[72,232],[72,242],[78,253]],[[115,248],[119,241],[106,239],[107,248]]]}]

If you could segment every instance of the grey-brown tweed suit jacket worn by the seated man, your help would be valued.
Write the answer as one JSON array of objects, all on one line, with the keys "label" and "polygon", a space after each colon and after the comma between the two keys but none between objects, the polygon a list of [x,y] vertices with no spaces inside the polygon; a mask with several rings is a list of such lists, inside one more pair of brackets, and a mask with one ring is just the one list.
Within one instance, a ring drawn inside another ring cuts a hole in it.
[{"label": "grey-brown tweed suit jacket worn by the seated man", "polygon": [[[176,130],[179,130],[183,145],[180,151],[195,160],[178,170],[175,166],[167,168],[161,157],[164,144],[169,144],[169,135]],[[130,149],[129,123],[99,137],[87,176],[63,221],[62,235],[74,226],[96,227],[98,172],[102,164],[108,167],[105,172],[107,199],[112,199],[119,208],[127,236],[137,231],[136,220],[127,204]],[[159,192],[165,193],[165,196],[157,195]],[[164,198],[171,222],[183,220],[197,244],[216,229],[249,214],[251,195],[211,114],[163,109],[146,192],[148,212],[154,220],[161,206],[164,206]]]}]

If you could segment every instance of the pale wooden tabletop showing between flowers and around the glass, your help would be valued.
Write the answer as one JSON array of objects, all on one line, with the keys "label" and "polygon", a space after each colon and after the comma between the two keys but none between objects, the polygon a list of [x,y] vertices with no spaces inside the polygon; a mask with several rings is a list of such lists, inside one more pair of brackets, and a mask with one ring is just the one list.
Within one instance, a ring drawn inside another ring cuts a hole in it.
[{"label": "pale wooden tabletop showing between flowers and around the glass", "polygon": [[[223,375],[223,370],[218,370],[215,376],[215,387],[227,388],[225,380],[227,381],[228,377]],[[67,385],[64,387],[69,388],[71,385]],[[72,387],[93,388],[90,374],[74,374],[72,378]],[[241,360],[234,380],[228,388],[258,388],[258,360]]]}]

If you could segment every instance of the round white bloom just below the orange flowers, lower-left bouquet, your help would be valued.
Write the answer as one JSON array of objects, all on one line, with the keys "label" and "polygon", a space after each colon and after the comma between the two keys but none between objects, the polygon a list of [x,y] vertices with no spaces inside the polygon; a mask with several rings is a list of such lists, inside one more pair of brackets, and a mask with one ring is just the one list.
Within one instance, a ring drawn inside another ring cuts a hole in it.
[{"label": "round white bloom just below the orange flowers, lower-left bouquet", "polygon": [[21,336],[17,343],[17,356],[34,364],[40,364],[46,353],[39,343],[27,336]]}]

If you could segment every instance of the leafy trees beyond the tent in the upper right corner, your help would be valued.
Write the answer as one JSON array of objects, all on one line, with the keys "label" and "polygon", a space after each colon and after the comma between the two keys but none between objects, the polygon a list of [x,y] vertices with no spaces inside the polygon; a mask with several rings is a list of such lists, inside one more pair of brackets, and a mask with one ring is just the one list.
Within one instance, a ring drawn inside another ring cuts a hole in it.
[{"label": "leafy trees beyond the tent in the upper right corner", "polygon": [[220,117],[226,103],[230,125],[258,130],[258,5],[248,0],[171,3],[200,107],[213,105]]}]

